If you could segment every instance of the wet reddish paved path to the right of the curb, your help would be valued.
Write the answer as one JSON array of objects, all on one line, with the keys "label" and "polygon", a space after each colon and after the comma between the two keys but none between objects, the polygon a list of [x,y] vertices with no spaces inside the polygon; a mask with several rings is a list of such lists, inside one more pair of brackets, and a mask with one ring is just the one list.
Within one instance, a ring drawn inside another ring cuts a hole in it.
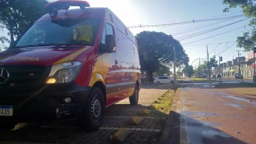
[{"label": "wet reddish paved path to the right of the curb", "polygon": [[256,144],[256,97],[205,87],[178,92],[171,144]]}]

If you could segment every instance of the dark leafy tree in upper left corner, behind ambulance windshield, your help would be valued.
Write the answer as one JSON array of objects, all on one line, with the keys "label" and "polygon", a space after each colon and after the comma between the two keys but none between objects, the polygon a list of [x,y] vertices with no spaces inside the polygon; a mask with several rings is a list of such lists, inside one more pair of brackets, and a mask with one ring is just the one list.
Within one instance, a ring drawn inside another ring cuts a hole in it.
[{"label": "dark leafy tree in upper left corner, behind ambulance windshield", "polygon": [[47,0],[1,0],[0,29],[7,29],[8,36],[0,37],[0,42],[14,41],[38,18],[47,13],[44,6]]}]

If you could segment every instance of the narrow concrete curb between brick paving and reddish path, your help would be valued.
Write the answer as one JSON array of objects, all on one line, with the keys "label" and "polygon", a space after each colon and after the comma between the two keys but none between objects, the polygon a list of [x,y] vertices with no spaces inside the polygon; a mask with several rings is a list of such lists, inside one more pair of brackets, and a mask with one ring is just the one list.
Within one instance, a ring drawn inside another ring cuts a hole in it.
[{"label": "narrow concrete curb between brick paving and reddish path", "polygon": [[171,140],[173,126],[174,126],[174,119],[175,119],[175,111],[176,111],[177,101],[178,101],[178,96],[179,96],[179,90],[180,90],[180,88],[178,88],[178,90],[175,94],[172,108],[168,115],[167,121],[165,123],[165,128],[163,129],[163,133],[161,135],[159,144],[167,144],[169,142],[169,140]]}]

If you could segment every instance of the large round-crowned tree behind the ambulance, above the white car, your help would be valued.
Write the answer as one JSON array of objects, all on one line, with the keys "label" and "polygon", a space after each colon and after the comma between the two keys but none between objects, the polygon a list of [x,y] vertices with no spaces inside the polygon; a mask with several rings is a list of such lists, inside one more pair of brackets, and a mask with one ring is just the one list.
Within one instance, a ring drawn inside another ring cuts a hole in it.
[{"label": "large round-crowned tree behind the ambulance, above the white car", "polygon": [[149,81],[152,80],[153,72],[160,65],[172,66],[174,60],[174,47],[176,62],[179,65],[188,65],[189,59],[179,41],[171,35],[163,32],[143,31],[136,36],[140,52],[141,70],[147,73]]}]

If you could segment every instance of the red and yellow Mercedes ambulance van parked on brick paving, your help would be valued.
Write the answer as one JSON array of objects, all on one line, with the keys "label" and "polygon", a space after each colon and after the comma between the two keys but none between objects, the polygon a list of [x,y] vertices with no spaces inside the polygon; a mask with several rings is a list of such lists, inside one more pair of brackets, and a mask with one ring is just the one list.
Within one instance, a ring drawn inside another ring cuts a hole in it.
[{"label": "red and yellow Mercedes ambulance van parked on brick paving", "polygon": [[[79,6],[79,9],[69,9]],[[137,41],[107,8],[60,0],[0,52],[0,124],[78,118],[99,128],[104,108],[141,87]]]}]

